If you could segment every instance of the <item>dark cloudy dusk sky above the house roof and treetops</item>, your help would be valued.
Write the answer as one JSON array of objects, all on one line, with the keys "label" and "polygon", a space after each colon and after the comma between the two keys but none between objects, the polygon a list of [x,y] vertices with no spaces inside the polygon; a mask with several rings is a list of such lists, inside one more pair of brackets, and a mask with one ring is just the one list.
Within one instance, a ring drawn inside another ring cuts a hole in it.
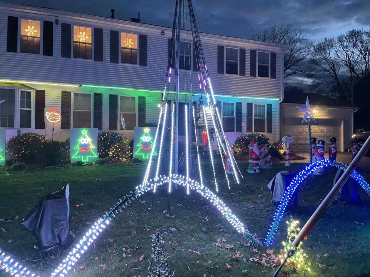
[{"label": "dark cloudy dusk sky above the house roof and treetops", "polygon": [[[158,0],[6,0],[79,13],[128,20],[148,16]],[[270,24],[290,22],[306,31],[312,40],[335,36],[353,28],[370,27],[370,0],[193,0],[199,28],[206,33],[250,38]],[[145,23],[172,25],[175,0],[161,0]],[[186,21],[185,21],[186,24]]]}]

